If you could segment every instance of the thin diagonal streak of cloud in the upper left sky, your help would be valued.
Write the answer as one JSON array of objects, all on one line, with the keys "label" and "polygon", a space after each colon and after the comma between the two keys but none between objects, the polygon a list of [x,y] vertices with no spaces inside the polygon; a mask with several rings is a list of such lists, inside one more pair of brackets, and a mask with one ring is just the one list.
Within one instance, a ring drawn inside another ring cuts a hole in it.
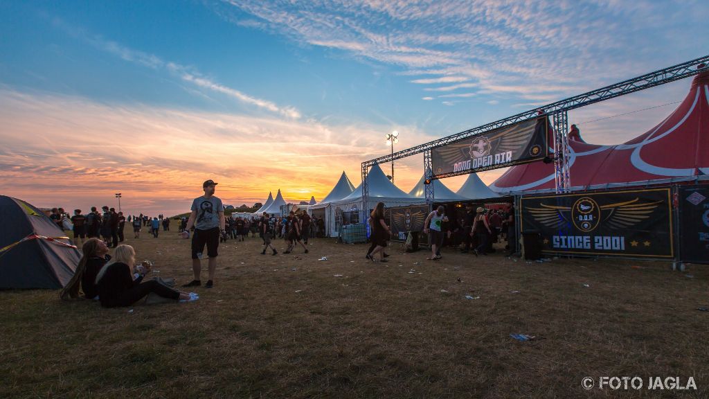
[{"label": "thin diagonal streak of cloud in the upper left sky", "polygon": [[279,106],[274,102],[270,102],[265,99],[258,99],[252,97],[248,94],[241,92],[238,89],[232,87],[227,87],[224,84],[220,84],[208,77],[202,75],[194,67],[187,67],[185,65],[180,65],[177,62],[171,62],[162,60],[162,58],[157,55],[145,53],[140,50],[135,50],[133,48],[128,48],[125,45],[116,43],[112,40],[107,40],[101,35],[94,35],[88,31],[77,28],[74,26],[69,26],[65,21],[59,18],[53,18],[52,24],[63,31],[74,35],[77,38],[86,40],[86,42],[94,45],[95,48],[106,51],[106,53],[111,53],[116,55],[122,60],[133,62],[138,65],[143,65],[145,67],[150,67],[154,70],[166,70],[173,76],[179,77],[184,82],[189,84],[194,84],[196,87],[201,89],[206,89],[211,92],[225,94],[226,96],[237,99],[238,101],[257,106],[260,109],[264,109],[276,114],[281,114],[291,119],[298,119],[301,117],[300,111],[294,106]]}]

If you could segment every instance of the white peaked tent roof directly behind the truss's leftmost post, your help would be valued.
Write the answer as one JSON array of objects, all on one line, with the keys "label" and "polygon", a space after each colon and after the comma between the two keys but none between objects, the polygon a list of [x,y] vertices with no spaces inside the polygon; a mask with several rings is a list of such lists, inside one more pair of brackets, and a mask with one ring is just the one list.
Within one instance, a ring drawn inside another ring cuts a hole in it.
[{"label": "white peaked tent roof directly behind the truss's leftmost post", "polygon": [[359,223],[364,223],[367,221],[369,209],[372,209],[377,202],[384,202],[386,207],[425,203],[425,199],[411,197],[406,192],[399,190],[389,181],[376,163],[372,165],[366,178],[369,188],[367,204],[362,200],[362,184],[360,183],[350,195],[331,204],[332,206],[328,209],[329,218],[335,220],[339,212],[356,212],[359,214]]}]

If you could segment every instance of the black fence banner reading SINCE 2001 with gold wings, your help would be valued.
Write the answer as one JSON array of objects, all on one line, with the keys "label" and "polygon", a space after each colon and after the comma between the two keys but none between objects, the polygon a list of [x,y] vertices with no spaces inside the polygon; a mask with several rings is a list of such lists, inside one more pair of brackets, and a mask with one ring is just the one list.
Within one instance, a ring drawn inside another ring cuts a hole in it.
[{"label": "black fence banner reading SINCE 2001 with gold wings", "polygon": [[520,198],[520,231],[542,253],[674,257],[670,189]]}]

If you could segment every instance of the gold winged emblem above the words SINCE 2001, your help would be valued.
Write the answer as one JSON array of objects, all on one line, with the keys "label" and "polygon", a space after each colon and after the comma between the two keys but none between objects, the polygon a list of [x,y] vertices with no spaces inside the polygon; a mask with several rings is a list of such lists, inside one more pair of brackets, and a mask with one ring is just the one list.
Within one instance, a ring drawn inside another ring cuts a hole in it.
[{"label": "gold winged emblem above the words SINCE 2001", "polygon": [[537,222],[552,229],[561,229],[574,224],[581,231],[593,231],[601,223],[612,229],[625,229],[648,219],[661,201],[640,202],[635,200],[616,202],[599,206],[590,197],[576,200],[572,207],[540,204],[537,208],[527,208]]}]

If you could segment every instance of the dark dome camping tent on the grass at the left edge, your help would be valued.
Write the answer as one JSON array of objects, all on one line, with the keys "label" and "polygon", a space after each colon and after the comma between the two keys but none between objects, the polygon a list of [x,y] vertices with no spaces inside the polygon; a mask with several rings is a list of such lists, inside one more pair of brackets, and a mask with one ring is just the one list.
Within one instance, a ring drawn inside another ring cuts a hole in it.
[{"label": "dark dome camping tent on the grass at the left edge", "polygon": [[0,195],[0,288],[64,287],[79,251],[40,209]]}]

